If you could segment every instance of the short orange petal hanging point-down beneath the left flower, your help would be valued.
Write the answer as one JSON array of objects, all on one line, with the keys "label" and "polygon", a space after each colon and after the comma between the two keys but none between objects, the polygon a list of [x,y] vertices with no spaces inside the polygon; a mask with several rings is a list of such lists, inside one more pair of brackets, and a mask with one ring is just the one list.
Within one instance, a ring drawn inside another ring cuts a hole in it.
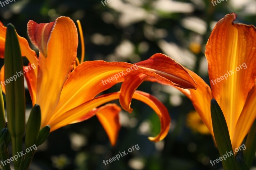
[{"label": "short orange petal hanging point-down beneath the left flower", "polygon": [[118,107],[116,104],[107,104],[100,108],[94,108],[89,113],[85,114],[81,118],[77,119],[72,123],[82,122],[85,121],[92,116],[96,115],[102,124],[103,128],[107,132],[108,138],[112,146],[116,144],[116,140],[118,137],[119,130],[121,125],[119,123],[119,112],[121,108]]}]

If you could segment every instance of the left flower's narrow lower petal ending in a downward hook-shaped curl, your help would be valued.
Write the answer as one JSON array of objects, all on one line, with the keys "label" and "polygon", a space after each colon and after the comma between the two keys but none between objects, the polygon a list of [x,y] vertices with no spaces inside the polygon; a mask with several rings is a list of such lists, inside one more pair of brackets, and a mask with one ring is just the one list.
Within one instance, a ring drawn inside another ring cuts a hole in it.
[{"label": "left flower's narrow lower petal ending in a downward hook-shaped curl", "polygon": [[[105,94],[89,100],[63,114],[59,114],[48,122],[48,124],[51,125],[51,131],[63,127],[70,122],[74,122],[81,116],[84,116],[84,113],[90,113],[90,111],[95,107],[112,100],[117,100],[119,98],[119,94],[120,92]],[[171,120],[166,107],[164,107],[164,105],[155,97],[145,92],[136,91],[133,98],[148,104],[157,113],[161,122],[161,131],[157,137],[150,137],[149,139],[155,142],[162,140],[169,131]]]}]

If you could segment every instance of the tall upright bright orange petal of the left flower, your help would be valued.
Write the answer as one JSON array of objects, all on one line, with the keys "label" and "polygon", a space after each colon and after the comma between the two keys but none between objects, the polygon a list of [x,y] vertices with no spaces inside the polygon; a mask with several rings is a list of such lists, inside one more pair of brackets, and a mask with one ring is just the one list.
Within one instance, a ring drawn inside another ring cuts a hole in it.
[{"label": "tall upright bright orange petal of the left flower", "polygon": [[[61,89],[76,60],[78,46],[75,23],[68,17],[59,17],[55,22],[54,29],[51,30],[50,40],[47,41],[47,57],[44,57],[40,51],[38,59],[36,103],[44,108],[42,109],[42,125],[45,125],[51,118],[50,115],[54,113],[60,99]],[[36,36],[42,32],[33,30],[33,28],[36,29],[36,24],[32,21],[28,23],[28,27],[29,37],[34,41],[32,34]],[[46,26],[44,28],[44,32],[47,32],[45,29],[51,29],[51,27]],[[38,31],[42,30],[38,29]],[[45,43],[45,39],[43,41]],[[39,47],[41,48],[41,46]]]}]

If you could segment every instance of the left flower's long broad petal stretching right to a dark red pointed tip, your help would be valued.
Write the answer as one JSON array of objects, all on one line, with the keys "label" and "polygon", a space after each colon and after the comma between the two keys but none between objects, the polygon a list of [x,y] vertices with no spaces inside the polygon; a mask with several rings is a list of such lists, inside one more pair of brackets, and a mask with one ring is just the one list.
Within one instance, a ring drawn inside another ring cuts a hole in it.
[{"label": "left flower's long broad petal stretching right to a dark red pointed tip", "polygon": [[[163,62],[168,66],[164,66]],[[143,73],[168,84],[180,86],[176,84],[180,83],[181,87],[184,88],[196,88],[196,83],[188,72],[166,55],[155,54],[148,60],[137,64],[140,66],[124,62],[104,62],[101,60],[87,61],[79,64],[70,73],[63,86],[60,102],[56,109],[57,114],[66,112],[87,100],[93,99],[100,92],[116,83],[122,82],[125,77],[124,75],[129,75],[132,72]],[[169,68],[169,66],[173,68]]]}]

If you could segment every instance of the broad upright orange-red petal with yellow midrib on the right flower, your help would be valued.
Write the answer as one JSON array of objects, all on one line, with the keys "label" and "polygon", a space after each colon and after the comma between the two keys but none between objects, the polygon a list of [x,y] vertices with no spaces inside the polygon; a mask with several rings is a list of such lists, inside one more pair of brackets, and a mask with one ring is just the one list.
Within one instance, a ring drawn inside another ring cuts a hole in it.
[{"label": "broad upright orange-red petal with yellow midrib on the right flower", "polygon": [[227,14],[216,24],[205,51],[212,94],[225,115],[231,139],[256,78],[256,28],[234,24],[235,19],[236,14]]}]

